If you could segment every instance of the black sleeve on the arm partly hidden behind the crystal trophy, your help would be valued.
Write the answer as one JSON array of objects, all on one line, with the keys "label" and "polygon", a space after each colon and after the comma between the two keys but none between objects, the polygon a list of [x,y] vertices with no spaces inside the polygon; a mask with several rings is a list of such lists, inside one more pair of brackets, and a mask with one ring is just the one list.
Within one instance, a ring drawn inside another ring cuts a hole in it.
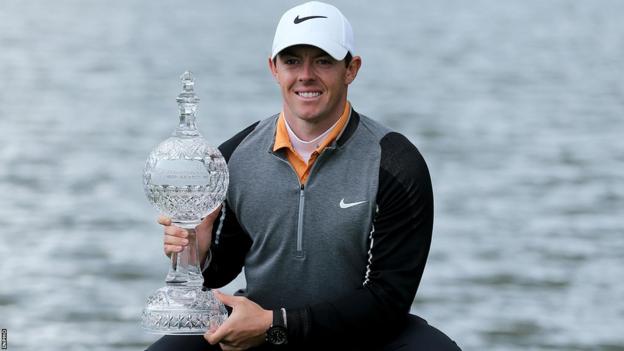
[{"label": "black sleeve on the arm partly hidden behind the crystal trophy", "polygon": [[[219,151],[228,163],[234,150],[258,123],[245,128],[219,146]],[[236,278],[242,270],[251,244],[251,237],[240,226],[236,214],[226,201],[219,218],[212,227],[212,244],[210,245],[212,257],[210,264],[203,271],[204,285],[209,288],[218,288]]]}]

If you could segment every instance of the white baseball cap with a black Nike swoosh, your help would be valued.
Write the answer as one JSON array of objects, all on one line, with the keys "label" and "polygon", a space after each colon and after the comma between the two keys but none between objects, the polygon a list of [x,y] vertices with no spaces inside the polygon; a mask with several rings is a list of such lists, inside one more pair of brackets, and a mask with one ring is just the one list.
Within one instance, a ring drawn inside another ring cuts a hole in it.
[{"label": "white baseball cap with a black Nike swoosh", "polygon": [[271,58],[289,46],[312,45],[340,61],[347,52],[353,55],[353,44],[353,29],[342,12],[332,5],[310,1],[284,13],[275,30]]}]

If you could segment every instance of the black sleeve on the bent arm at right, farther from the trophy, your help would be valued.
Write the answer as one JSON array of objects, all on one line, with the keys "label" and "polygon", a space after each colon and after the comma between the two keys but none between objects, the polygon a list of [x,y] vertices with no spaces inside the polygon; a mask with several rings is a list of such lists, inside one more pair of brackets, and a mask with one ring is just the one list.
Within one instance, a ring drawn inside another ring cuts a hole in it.
[{"label": "black sleeve on the bent arm at right, farther from the trophy", "polygon": [[420,283],[433,229],[433,192],[425,160],[404,136],[381,140],[377,213],[361,288],[333,301],[288,311],[289,342],[368,343],[404,322]]}]

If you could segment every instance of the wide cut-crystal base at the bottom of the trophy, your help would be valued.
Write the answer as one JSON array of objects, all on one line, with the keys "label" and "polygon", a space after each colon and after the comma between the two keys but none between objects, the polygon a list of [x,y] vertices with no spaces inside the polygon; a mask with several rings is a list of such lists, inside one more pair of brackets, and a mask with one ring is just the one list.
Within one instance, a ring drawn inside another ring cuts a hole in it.
[{"label": "wide cut-crystal base at the bottom of the trophy", "polygon": [[228,317],[225,306],[201,286],[167,285],[147,298],[141,327],[155,334],[203,335]]}]

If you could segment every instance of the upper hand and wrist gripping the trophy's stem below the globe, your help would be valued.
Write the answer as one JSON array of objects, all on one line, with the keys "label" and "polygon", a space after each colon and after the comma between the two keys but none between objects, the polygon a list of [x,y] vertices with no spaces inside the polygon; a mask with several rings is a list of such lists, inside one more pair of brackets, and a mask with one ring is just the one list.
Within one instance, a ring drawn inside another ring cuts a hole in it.
[{"label": "upper hand and wrist gripping the trophy's stem below the globe", "polygon": [[[197,235],[197,246],[199,249],[198,256],[201,262],[204,262],[204,260],[206,259],[206,255],[212,241],[212,224],[219,216],[220,211],[221,206],[219,206],[216,210],[212,211],[201,221],[201,223],[197,227],[195,227],[195,233]],[[160,216],[158,218],[158,223],[162,224],[165,227],[165,255],[171,257],[171,254],[174,252],[182,252],[184,247],[189,244],[188,230],[174,225],[171,222],[171,218],[165,216]]]}]

